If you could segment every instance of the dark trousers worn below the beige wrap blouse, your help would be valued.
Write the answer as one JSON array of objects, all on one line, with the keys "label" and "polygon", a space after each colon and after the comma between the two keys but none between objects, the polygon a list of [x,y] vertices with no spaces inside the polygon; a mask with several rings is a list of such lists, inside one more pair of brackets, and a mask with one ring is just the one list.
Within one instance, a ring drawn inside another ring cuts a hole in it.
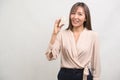
[{"label": "dark trousers worn below the beige wrap blouse", "polygon": [[[61,68],[57,78],[58,80],[83,80],[83,71],[84,69]],[[87,80],[93,80],[90,70]]]}]

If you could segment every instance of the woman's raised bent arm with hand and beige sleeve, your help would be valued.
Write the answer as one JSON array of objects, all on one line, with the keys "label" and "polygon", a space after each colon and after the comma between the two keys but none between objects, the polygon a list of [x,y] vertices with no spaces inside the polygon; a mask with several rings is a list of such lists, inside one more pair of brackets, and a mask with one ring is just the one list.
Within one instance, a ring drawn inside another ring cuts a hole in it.
[{"label": "woman's raised bent arm with hand and beige sleeve", "polygon": [[58,35],[58,33],[61,27],[63,26],[63,24],[59,26],[60,21],[61,21],[60,19],[56,20],[54,24],[54,30],[51,36],[49,47],[46,52],[46,57],[48,58],[48,60],[56,59],[59,53],[60,35]]}]

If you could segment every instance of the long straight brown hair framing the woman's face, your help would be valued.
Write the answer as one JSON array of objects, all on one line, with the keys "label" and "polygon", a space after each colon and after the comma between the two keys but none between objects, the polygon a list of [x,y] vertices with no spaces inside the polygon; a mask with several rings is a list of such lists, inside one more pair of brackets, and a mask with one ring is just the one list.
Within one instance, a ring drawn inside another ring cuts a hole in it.
[{"label": "long straight brown hair framing the woman's face", "polygon": [[66,30],[72,30],[73,29],[73,25],[71,23],[71,14],[74,10],[77,10],[78,7],[82,7],[85,11],[85,18],[86,18],[86,21],[83,23],[84,27],[87,28],[88,30],[92,30],[92,27],[91,27],[91,17],[90,17],[90,11],[89,11],[89,8],[88,6],[83,3],[83,2],[77,2],[75,3],[71,10],[70,10],[70,14],[69,14],[69,25],[68,25],[68,28]]}]

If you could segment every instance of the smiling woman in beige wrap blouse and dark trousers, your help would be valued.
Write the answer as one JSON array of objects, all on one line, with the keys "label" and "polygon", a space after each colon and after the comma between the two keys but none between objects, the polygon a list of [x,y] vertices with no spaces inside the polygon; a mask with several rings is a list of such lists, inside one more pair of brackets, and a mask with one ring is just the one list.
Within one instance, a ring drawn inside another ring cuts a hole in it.
[{"label": "smiling woman in beige wrap blouse and dark trousers", "polygon": [[55,21],[46,51],[48,60],[61,54],[58,80],[100,80],[99,41],[91,27],[88,6],[83,2],[72,6],[66,30],[60,31],[60,21]]}]

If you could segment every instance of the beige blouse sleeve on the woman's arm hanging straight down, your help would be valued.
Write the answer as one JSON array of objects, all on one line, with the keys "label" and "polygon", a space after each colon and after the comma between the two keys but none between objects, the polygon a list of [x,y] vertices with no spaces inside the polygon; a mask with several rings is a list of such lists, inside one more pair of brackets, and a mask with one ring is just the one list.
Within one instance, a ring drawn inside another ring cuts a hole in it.
[{"label": "beige blouse sleeve on the woman's arm hanging straight down", "polygon": [[93,46],[93,56],[92,56],[93,80],[100,80],[100,54],[99,53],[100,53],[99,52],[99,39],[96,33],[94,46]]}]

